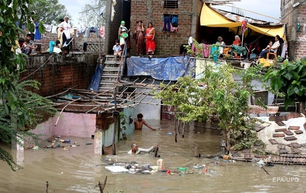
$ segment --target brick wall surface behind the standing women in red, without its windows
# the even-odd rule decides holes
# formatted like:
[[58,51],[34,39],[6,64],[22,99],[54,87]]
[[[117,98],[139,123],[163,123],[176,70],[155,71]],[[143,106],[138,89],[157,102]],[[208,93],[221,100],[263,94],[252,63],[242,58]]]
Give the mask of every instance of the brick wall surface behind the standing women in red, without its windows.
[[[130,29],[136,27],[136,21],[142,20],[146,27],[148,22],[152,22],[156,29],[156,55],[165,55],[167,53],[178,55],[180,45],[187,43],[191,34],[192,18],[196,12],[201,9],[193,10],[191,0],[179,0],[178,9],[165,9],[164,1],[161,0],[131,0]],[[201,5],[201,1],[198,1]],[[200,6],[200,8],[202,8]],[[178,32],[163,32],[164,14],[175,14],[179,16]],[[199,15],[200,13],[197,13]],[[196,16],[196,15],[195,15]],[[130,36],[133,30],[131,30]],[[135,53],[136,43],[131,40],[131,54]]]

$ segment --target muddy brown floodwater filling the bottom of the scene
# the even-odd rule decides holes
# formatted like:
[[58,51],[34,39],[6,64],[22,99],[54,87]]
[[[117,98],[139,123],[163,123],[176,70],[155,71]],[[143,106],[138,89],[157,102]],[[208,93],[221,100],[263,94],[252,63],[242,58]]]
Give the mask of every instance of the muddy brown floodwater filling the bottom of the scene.
[[[304,192],[306,190],[306,167],[302,165],[266,166],[268,175],[254,162],[223,162],[222,159],[194,157],[194,146],[199,146],[201,155],[220,153],[221,134],[219,130],[186,125],[185,138],[174,139],[173,121],[150,121],[155,128],[152,131],[143,128],[127,136],[127,140],[116,145],[117,155],[94,155],[91,138],[63,137],[76,141],[80,146],[33,150],[24,152],[12,150],[23,170],[13,172],[6,162],[0,162],[0,192],[32,193],[45,192],[45,183],[49,182],[48,192],[100,192],[94,186],[103,183],[107,175],[104,192]],[[146,153],[127,155],[132,142],[139,147],[148,148],[158,144],[158,154],[165,160],[165,167],[176,170],[187,167],[185,174],[116,173],[105,169],[104,159],[117,159],[117,162],[136,161],[139,165],[156,165],[158,157]],[[9,147],[5,147],[8,149]],[[214,161],[220,162],[215,164]],[[206,164],[208,171],[193,169],[194,164]]]

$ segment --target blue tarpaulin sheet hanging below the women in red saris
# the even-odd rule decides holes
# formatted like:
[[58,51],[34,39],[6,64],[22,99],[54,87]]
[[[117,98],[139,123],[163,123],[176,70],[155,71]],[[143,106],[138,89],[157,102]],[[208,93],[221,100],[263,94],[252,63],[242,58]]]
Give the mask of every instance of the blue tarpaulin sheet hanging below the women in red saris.
[[151,76],[157,80],[176,81],[179,77],[195,76],[195,59],[188,56],[169,58],[127,58],[127,76]]

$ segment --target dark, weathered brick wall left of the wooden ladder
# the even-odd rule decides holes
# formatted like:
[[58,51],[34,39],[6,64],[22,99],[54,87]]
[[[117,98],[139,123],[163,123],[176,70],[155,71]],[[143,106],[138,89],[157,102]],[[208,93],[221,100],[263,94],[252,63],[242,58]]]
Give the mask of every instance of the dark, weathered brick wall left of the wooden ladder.
[[26,72],[20,80],[39,81],[39,90],[31,89],[42,96],[63,92],[64,88],[87,89],[98,57],[98,54],[31,56],[26,59]]

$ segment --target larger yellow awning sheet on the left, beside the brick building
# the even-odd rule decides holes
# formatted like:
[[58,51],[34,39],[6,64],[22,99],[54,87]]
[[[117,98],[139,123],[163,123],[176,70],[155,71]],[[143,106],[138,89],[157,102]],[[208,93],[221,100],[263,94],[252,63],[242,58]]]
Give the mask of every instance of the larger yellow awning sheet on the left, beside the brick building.
[[208,27],[220,27],[220,28],[231,28],[241,26],[241,22],[233,22],[226,17],[220,15],[213,9],[209,8],[203,4],[201,17],[200,17],[201,26]]

